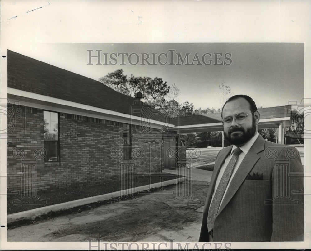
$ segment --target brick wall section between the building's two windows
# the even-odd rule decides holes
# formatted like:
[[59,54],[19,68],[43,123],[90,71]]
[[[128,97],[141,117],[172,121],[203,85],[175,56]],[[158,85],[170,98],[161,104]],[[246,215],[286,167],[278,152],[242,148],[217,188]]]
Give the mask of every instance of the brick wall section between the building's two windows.
[[63,113],[59,117],[61,168],[57,169],[64,179],[54,172],[56,185],[61,188],[115,180],[120,174],[119,161],[111,157],[110,151],[122,149],[122,124]]

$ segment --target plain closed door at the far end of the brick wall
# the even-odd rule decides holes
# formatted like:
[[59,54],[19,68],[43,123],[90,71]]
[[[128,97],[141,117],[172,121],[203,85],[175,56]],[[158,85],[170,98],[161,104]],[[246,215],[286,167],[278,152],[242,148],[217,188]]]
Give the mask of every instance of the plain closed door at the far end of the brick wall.
[[176,138],[163,137],[163,168],[176,168]]

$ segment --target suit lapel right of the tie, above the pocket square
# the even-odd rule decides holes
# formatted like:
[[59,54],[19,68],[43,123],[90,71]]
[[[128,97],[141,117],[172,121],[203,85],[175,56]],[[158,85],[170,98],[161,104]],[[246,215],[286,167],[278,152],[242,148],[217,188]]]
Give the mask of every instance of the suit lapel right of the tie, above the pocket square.
[[230,182],[229,188],[225,194],[225,197],[220,205],[218,213],[220,213],[225,206],[228,204],[230,199],[239,189],[239,187],[244,182],[247,174],[254,167],[258,159],[260,159],[258,153],[264,150],[265,140],[259,135],[257,140],[254,142],[253,146],[249,149],[248,153],[245,155],[243,161],[241,162],[237,172],[235,173],[232,181]]

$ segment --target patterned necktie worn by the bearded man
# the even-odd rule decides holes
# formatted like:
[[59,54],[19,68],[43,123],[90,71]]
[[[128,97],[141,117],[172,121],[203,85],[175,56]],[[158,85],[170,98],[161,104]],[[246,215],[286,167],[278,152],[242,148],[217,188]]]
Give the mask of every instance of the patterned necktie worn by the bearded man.
[[240,148],[236,148],[233,151],[233,156],[230,159],[229,164],[227,165],[225,172],[221,177],[221,180],[220,180],[219,185],[217,187],[217,190],[215,192],[213,201],[211,203],[210,210],[208,211],[208,217],[207,217],[207,221],[206,221],[208,231],[211,231],[214,227],[214,221],[215,221],[216,215],[218,213],[218,209],[220,206],[221,199],[225,194],[225,190],[226,190],[226,187],[228,186],[232,171],[234,169],[236,161],[238,160],[241,152],[242,152],[242,150]]

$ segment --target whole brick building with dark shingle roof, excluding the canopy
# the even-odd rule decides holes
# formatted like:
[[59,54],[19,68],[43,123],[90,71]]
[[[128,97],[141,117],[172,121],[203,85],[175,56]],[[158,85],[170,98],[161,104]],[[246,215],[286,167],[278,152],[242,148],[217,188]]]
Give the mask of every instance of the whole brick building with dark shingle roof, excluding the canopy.
[[8,189],[161,173],[186,161],[165,114],[104,84],[8,51]]

